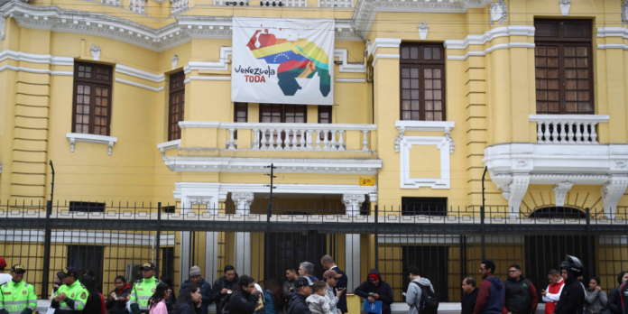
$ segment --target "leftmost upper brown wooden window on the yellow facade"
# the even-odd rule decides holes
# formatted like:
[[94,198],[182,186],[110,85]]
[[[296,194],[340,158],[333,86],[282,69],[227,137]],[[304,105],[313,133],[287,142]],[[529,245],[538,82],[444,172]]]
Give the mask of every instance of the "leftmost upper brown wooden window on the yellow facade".
[[72,132],[109,135],[113,68],[77,62],[74,65]]

